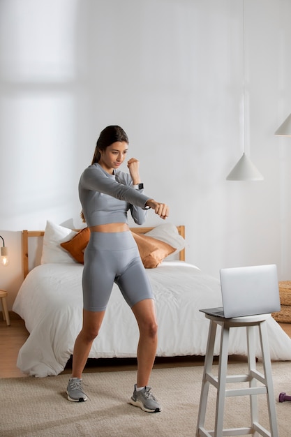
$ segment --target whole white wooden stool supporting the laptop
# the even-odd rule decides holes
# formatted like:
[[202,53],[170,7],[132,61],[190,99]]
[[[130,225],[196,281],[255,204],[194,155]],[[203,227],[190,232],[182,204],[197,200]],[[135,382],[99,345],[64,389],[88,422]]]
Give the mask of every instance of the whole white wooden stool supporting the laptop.
[[[241,436],[246,434],[254,435],[256,432],[262,436],[278,437],[278,428],[276,421],[276,406],[274,399],[273,380],[271,376],[271,360],[269,355],[269,343],[267,337],[267,318],[270,314],[261,314],[259,316],[247,316],[237,318],[221,318],[209,316],[210,320],[207,353],[204,361],[204,372],[202,378],[202,389],[200,396],[200,407],[197,419],[196,437],[222,437],[222,436]],[[218,377],[212,373],[214,359],[214,343],[216,338],[216,328],[221,325],[221,347],[218,363]],[[228,341],[231,327],[246,327],[248,343],[248,374],[227,376],[228,360]],[[262,348],[262,362],[264,374],[256,369],[255,360],[255,327],[260,332],[260,346]],[[257,380],[262,385],[257,387]],[[226,383],[245,383],[248,381],[248,387],[226,390]],[[214,385],[217,389],[216,395],[216,417],[214,430],[207,431],[204,429],[205,415],[207,410],[207,398],[209,385]],[[259,423],[258,417],[258,394],[267,394],[267,404],[269,410],[269,424],[271,432],[267,431]],[[245,428],[223,429],[223,416],[225,397],[246,396],[250,397],[251,406],[251,426]],[[237,412],[239,414],[239,411]]]

